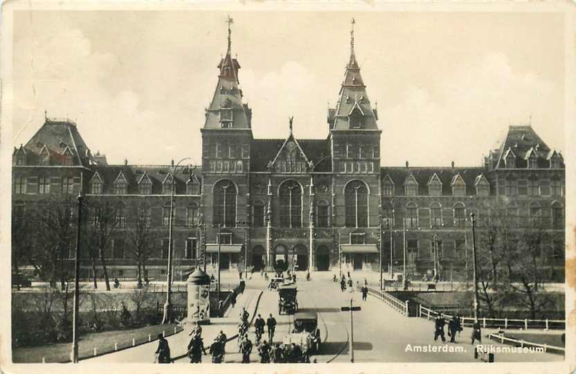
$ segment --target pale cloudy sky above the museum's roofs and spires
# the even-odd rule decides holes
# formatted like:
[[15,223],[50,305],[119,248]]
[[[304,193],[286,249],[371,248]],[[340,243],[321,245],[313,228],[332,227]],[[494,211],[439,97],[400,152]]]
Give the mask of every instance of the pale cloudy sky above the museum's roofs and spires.
[[[18,11],[12,145],[69,117],[109,163],[201,162],[228,12]],[[564,144],[564,15],[231,12],[255,138],[325,139],[354,51],[377,103],[382,166],[480,166],[508,125]]]

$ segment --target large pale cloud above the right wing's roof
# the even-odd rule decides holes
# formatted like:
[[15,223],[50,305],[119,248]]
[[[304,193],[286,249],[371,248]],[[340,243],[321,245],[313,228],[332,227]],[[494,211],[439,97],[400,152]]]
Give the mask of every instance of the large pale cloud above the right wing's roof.
[[486,55],[428,87],[407,87],[399,104],[379,111],[382,159],[390,166],[406,160],[413,166],[480,166],[503,127],[527,123],[530,115],[547,141],[546,105],[561,103],[550,80],[514,71],[503,54]]

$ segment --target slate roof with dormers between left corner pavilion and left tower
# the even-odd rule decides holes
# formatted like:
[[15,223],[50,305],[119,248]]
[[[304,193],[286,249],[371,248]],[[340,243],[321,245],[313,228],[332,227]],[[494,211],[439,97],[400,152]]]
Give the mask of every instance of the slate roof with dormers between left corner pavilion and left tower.
[[[152,182],[152,195],[161,195],[163,193],[162,181],[167,177],[170,172],[170,166],[139,166],[139,165],[107,165],[107,166],[91,166],[92,173],[87,175],[87,180],[91,180],[93,175],[98,172],[104,185],[102,186],[103,193],[111,193],[114,190],[114,181],[120,172],[128,182],[128,194],[138,194],[138,181],[143,177],[144,173],[150,178]],[[186,168],[178,168],[176,172],[176,193],[186,193],[186,182],[190,179],[190,171],[192,171],[198,178],[201,175],[200,166],[192,166],[192,170]],[[168,179],[170,180],[170,179]]]

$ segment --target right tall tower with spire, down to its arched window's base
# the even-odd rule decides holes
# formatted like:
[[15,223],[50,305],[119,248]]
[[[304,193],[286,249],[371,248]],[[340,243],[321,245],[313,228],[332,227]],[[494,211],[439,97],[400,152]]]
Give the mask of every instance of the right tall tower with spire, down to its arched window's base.
[[[343,191],[350,180],[358,180],[368,187],[370,216],[368,226],[378,224],[378,197],[380,173],[380,135],[378,114],[366,94],[366,84],[360,73],[354,51],[354,19],[350,22],[350,60],[345,67],[344,79],[335,108],[328,109],[327,122],[332,149],[332,171],[336,186],[335,208],[343,208]],[[345,224],[342,215],[336,215],[335,226]]]

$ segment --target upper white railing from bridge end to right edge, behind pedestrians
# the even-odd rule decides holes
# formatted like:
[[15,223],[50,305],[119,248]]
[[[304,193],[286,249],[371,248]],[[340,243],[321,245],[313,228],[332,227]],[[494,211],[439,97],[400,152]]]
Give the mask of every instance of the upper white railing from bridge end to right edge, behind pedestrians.
[[[426,308],[420,304],[419,317],[426,317],[426,319],[433,319],[438,316],[440,312],[437,312],[431,308]],[[442,313],[447,318],[452,318],[452,314]],[[474,324],[474,317],[460,317],[462,326],[471,327]],[[507,330],[508,328],[523,328],[527,330],[529,328],[537,328],[544,330],[564,330],[566,329],[566,321],[560,319],[508,319],[508,318],[478,318],[478,321],[482,323],[483,328],[503,328]]]

